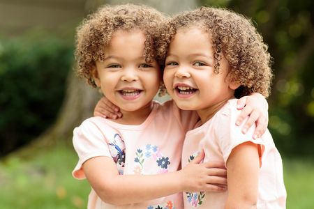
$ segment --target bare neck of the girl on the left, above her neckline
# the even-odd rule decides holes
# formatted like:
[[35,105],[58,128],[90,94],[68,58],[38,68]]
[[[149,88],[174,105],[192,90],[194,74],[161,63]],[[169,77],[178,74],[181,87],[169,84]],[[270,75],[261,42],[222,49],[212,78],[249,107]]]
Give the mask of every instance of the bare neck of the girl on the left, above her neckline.
[[122,118],[117,120],[112,120],[116,123],[124,124],[124,125],[140,125],[144,123],[149,114],[151,114],[151,110],[153,109],[153,102],[149,102],[147,105],[142,107],[141,109],[137,109],[135,111],[126,111],[124,109],[120,109]]

